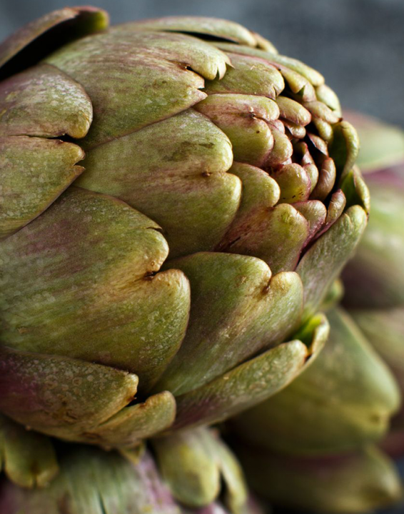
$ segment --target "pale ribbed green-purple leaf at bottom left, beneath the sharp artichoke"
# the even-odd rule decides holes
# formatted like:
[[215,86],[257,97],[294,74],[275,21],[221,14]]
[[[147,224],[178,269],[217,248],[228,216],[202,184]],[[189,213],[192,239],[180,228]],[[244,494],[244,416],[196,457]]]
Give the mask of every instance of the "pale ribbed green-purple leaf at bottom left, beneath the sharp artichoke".
[[143,453],[134,465],[116,452],[81,445],[64,450],[61,472],[49,488],[26,490],[3,481],[0,511],[8,514],[181,513],[148,453]]

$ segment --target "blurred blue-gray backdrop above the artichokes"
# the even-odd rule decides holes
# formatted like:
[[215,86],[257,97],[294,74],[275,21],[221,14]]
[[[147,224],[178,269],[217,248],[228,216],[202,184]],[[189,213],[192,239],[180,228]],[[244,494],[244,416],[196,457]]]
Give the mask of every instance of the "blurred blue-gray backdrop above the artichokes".
[[[0,39],[66,5],[69,0],[0,0]],[[404,126],[404,0],[94,0],[94,5],[107,9],[113,23],[168,14],[238,21],[271,39],[282,54],[321,71],[345,108]]]

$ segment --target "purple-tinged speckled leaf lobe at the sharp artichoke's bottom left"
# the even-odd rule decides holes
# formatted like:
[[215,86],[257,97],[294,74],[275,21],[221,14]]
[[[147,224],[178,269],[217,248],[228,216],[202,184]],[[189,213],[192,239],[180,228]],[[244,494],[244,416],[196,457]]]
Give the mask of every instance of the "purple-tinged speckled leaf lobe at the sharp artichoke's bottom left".
[[2,346],[0,410],[42,433],[76,440],[133,400],[138,378],[77,359]]

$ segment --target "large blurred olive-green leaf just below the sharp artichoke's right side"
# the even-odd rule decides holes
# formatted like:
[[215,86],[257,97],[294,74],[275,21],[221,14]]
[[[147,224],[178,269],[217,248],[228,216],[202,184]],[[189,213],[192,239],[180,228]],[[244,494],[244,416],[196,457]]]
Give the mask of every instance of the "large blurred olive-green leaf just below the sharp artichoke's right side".
[[286,454],[328,455],[385,435],[400,405],[398,385],[348,314],[335,309],[328,319],[330,338],[311,366],[229,422],[248,443]]

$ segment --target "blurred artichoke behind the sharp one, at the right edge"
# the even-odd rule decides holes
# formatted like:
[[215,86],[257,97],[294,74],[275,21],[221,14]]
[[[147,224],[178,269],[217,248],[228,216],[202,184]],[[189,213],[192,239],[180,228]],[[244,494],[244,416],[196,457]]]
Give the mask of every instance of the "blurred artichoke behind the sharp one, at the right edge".
[[[358,163],[372,198],[368,228],[343,271],[350,314],[333,308],[329,341],[312,366],[231,420],[256,490],[316,512],[368,512],[402,493],[393,463],[369,445],[385,438],[404,393],[404,133],[365,116],[348,119],[358,126]],[[393,455],[404,450],[403,419],[401,410],[383,440]]]

